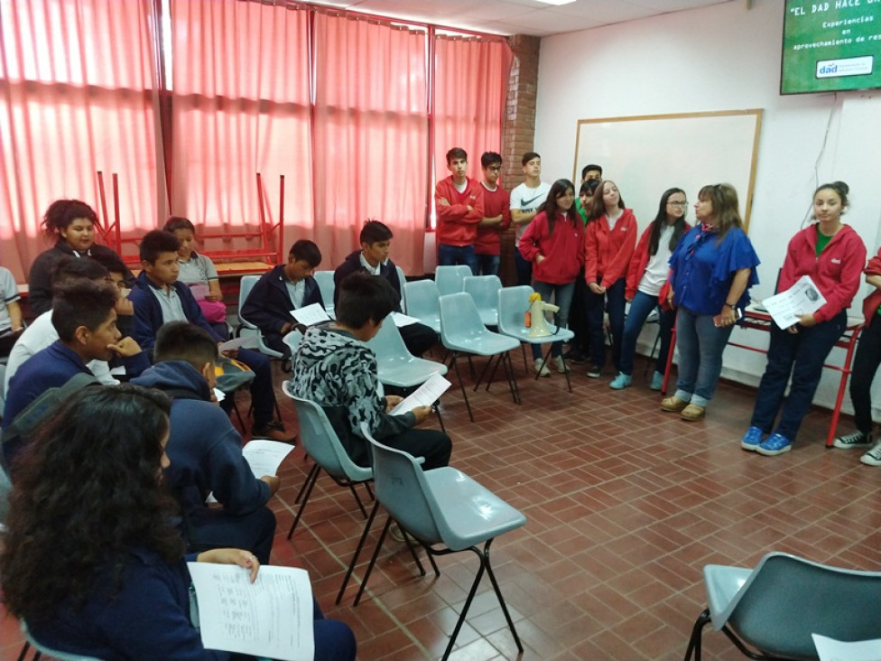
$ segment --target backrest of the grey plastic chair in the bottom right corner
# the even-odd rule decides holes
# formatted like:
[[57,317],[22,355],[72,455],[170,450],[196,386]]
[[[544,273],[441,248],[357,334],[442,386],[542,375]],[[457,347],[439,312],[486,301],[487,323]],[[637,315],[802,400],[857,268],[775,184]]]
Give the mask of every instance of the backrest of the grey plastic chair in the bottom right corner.
[[719,619],[768,654],[815,658],[811,634],[846,641],[878,638],[878,613],[881,573],[772,553]]

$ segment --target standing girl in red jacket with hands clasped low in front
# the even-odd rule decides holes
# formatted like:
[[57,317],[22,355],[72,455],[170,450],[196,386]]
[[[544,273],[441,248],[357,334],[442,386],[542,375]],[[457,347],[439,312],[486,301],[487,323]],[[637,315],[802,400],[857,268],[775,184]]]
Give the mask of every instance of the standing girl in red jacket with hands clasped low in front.
[[612,363],[621,372],[621,340],[624,335],[624,308],[627,268],[636,243],[636,218],[627,209],[615,182],[601,182],[593,196],[593,207],[584,237],[584,280],[588,285],[585,307],[588,312],[590,358],[588,376],[598,378],[606,364],[604,318],[612,331]]

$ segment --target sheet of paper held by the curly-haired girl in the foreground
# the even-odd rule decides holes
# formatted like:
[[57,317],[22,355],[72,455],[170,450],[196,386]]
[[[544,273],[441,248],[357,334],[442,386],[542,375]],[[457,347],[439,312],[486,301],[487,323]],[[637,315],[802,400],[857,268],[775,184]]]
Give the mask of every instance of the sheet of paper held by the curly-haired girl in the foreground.
[[202,645],[209,649],[312,661],[309,573],[264,565],[252,584],[235,564],[187,563],[199,601]]

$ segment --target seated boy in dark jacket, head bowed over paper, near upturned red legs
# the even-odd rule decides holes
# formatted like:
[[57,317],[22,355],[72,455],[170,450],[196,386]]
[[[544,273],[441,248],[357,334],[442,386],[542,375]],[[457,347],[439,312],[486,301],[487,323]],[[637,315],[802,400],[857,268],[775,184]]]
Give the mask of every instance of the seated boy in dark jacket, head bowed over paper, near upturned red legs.
[[320,263],[318,246],[301,238],[291,247],[287,264],[277,265],[260,276],[238,312],[242,319],[260,329],[267,347],[283,353],[285,358],[291,356],[291,349],[282,339],[296,324],[291,311],[312,303],[324,307],[321,290],[312,277]]

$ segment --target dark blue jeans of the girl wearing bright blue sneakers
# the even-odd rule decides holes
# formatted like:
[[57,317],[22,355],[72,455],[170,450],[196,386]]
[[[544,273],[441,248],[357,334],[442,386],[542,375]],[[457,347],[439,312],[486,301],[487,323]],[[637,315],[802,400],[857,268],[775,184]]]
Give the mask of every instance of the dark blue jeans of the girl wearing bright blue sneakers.
[[[848,315],[843,311],[811,328],[799,326],[797,333],[781,330],[777,324],[771,324],[768,365],[758,385],[751,426],[769,433],[783,405],[780,423],[774,432],[783,434],[790,441],[795,440],[802,418],[808,413],[820,384],[823,362],[847,325]],[[793,385],[784,402],[790,374],[793,376]]]

